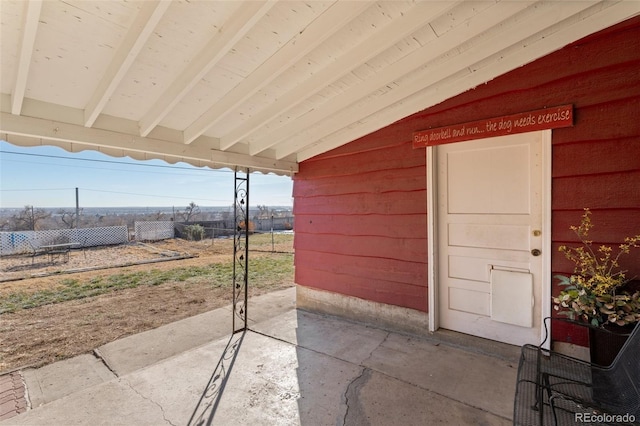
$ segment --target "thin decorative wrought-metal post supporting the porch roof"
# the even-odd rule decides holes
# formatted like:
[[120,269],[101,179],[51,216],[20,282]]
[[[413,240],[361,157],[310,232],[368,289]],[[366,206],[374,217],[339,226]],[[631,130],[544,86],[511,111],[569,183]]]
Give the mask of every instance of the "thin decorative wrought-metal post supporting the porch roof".
[[249,287],[249,169],[234,174],[233,333],[247,329]]

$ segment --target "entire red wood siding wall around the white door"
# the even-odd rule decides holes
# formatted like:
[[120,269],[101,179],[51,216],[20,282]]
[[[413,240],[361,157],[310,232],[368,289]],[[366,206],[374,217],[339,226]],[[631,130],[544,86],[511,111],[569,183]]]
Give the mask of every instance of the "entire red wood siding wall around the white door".
[[[300,164],[296,282],[427,309],[426,170],[416,130],[573,104],[553,131],[552,269],[584,207],[597,243],[640,233],[640,18],[589,36],[435,107]],[[640,253],[624,259],[640,277]],[[554,289],[557,291],[557,289]]]

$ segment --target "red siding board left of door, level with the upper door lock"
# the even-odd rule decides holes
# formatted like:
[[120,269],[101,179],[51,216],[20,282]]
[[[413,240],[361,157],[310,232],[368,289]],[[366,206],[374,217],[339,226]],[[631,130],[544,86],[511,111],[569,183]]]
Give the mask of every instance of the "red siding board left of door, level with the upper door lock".
[[296,232],[305,234],[370,235],[389,238],[427,238],[423,213],[404,215],[296,215]]

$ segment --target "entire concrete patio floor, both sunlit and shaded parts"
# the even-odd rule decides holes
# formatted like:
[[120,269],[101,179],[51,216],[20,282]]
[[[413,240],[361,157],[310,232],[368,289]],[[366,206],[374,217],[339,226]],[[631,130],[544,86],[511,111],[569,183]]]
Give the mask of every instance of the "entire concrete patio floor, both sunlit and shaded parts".
[[32,409],[0,425],[511,424],[518,348],[296,310],[294,289],[249,309],[244,333],[223,308],[25,370]]

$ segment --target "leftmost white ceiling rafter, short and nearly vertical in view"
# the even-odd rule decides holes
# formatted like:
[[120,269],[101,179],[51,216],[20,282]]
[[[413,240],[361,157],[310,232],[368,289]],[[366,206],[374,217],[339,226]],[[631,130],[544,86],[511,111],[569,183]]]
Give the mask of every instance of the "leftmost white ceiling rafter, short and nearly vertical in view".
[[22,40],[18,53],[18,67],[16,71],[16,81],[13,85],[11,95],[11,113],[20,115],[22,101],[27,90],[27,79],[29,78],[29,66],[33,55],[33,46],[36,42],[38,32],[38,21],[42,10],[42,1],[28,1],[24,4],[24,24],[22,27]]

